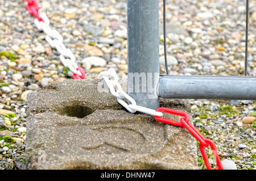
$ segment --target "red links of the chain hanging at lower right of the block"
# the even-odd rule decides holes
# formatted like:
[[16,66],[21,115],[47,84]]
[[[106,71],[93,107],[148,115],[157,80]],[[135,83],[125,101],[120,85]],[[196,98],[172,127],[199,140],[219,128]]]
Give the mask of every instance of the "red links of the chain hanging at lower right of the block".
[[217,149],[213,143],[212,140],[205,138],[190,122],[189,122],[189,115],[186,112],[172,110],[170,108],[166,107],[159,107],[156,111],[158,112],[166,112],[171,113],[173,115],[177,116],[183,116],[180,119],[180,122],[174,121],[174,120],[168,120],[163,117],[154,116],[156,121],[160,121],[162,123],[167,123],[171,125],[176,125],[177,127],[185,127],[188,129],[188,131],[197,139],[197,141],[200,142],[199,149],[201,151],[201,154],[203,156],[205,166],[207,167],[207,170],[212,170],[212,167],[210,166],[209,159],[207,157],[207,154],[205,153],[204,147],[208,147],[210,145],[210,148],[212,149],[213,156],[217,163],[217,168],[214,168],[214,170],[222,170],[222,164],[220,161],[220,157],[218,156]]

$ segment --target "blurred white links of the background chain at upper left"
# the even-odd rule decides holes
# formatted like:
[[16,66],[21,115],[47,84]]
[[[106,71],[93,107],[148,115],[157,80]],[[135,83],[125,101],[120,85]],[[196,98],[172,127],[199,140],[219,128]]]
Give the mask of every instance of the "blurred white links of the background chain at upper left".
[[75,62],[76,57],[72,53],[71,49],[66,48],[63,44],[63,37],[59,32],[52,30],[51,27],[49,27],[49,19],[46,14],[42,13],[39,16],[43,19],[44,22],[40,22],[38,19],[35,19],[34,23],[36,28],[38,28],[39,31],[46,33],[46,41],[52,48],[55,48],[57,52],[60,53],[60,61],[65,66],[65,68],[69,68],[70,71],[81,76],[81,72],[76,70],[78,68]]

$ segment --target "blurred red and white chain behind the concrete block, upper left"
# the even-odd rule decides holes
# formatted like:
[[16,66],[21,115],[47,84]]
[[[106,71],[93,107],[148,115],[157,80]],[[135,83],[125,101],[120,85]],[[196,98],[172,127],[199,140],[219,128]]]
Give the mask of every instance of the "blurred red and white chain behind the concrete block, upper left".
[[49,27],[49,19],[46,14],[39,14],[39,4],[36,0],[23,0],[27,1],[26,8],[31,15],[35,16],[35,26],[39,31],[46,33],[45,40],[49,43],[52,48],[55,48],[60,53],[60,61],[73,72],[74,79],[84,79],[85,73],[80,66],[76,64],[76,57],[72,53],[71,49],[66,48],[63,44],[63,37],[56,30],[52,30]]

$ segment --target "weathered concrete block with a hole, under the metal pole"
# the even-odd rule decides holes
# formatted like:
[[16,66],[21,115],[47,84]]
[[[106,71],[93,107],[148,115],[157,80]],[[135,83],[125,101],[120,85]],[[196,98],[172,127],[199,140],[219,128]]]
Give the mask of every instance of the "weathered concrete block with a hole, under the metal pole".
[[[104,87],[102,79],[69,79],[28,94],[28,170],[199,169],[186,129],[127,112]],[[188,100],[160,98],[160,106],[192,117]]]

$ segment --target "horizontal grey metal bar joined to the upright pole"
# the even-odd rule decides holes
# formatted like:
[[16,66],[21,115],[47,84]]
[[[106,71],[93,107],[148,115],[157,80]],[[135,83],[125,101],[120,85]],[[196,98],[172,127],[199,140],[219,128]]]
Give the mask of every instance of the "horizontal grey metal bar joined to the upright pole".
[[164,76],[159,79],[158,95],[166,99],[256,100],[256,77]]

